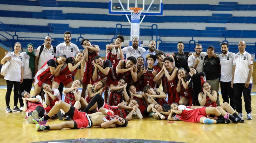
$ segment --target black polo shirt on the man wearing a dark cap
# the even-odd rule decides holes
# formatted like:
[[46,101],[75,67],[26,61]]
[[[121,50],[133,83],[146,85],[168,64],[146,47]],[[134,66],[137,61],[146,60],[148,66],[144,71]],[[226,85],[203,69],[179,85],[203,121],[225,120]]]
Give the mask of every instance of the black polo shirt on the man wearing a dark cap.
[[204,73],[206,76],[206,80],[215,80],[219,78],[220,71],[220,61],[219,58],[210,58],[205,56],[204,58]]

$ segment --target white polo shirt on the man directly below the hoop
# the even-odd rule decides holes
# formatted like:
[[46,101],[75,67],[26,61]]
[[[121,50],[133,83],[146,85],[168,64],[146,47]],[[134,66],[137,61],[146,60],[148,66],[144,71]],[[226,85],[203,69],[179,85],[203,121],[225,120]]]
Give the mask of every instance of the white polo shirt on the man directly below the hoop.
[[123,48],[123,54],[126,54],[126,59],[127,59],[128,57],[131,57],[131,56],[133,56],[133,57],[135,57],[135,58],[137,59],[137,58],[140,57],[140,56],[142,55],[142,53],[145,52],[145,51],[146,51],[146,50],[145,50],[144,48],[139,47],[139,46],[138,46],[138,48],[137,48],[136,50],[133,48],[133,46],[124,47],[124,48]]

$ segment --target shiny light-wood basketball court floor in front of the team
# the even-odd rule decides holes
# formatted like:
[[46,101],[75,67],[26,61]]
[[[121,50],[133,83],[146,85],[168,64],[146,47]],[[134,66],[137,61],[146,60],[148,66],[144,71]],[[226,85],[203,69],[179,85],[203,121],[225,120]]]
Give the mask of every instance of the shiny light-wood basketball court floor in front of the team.
[[[0,85],[5,85],[3,78],[0,78]],[[255,88],[252,90],[256,91]],[[123,139],[150,139],[167,140],[176,142],[255,142],[256,136],[256,96],[252,96],[252,118],[246,119],[246,112],[243,111],[245,123],[238,124],[214,124],[206,125],[199,123],[188,123],[174,121],[167,123],[167,120],[155,120],[146,117],[142,120],[133,119],[125,128],[100,127],[85,128],[81,130],[63,129],[59,131],[35,131],[35,125],[26,123],[25,113],[5,112],[5,92],[0,89],[0,142],[5,143],[26,143],[44,140],[62,140],[78,138],[123,138]],[[33,93],[33,91],[32,91]],[[222,103],[220,96],[220,102]],[[13,108],[13,93],[11,95],[11,109]],[[19,103],[18,103],[19,106]],[[244,102],[243,102],[244,107]],[[49,119],[47,125],[62,123],[63,121]],[[254,140],[254,141],[253,141]]]

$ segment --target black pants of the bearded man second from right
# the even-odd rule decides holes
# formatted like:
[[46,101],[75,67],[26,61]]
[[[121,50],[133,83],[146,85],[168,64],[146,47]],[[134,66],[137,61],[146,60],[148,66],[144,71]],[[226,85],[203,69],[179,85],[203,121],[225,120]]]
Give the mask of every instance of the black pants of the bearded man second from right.
[[230,82],[223,82],[220,81],[220,90],[223,99],[223,103],[229,103],[230,98],[230,106],[235,110],[235,96],[234,96],[234,89],[231,88],[231,81]]

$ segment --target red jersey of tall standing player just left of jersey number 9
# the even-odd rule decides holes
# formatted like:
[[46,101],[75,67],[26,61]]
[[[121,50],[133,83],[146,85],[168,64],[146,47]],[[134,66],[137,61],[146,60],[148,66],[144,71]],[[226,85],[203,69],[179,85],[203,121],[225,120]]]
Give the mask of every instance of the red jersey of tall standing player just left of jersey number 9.
[[[94,45],[92,45],[94,47]],[[85,62],[85,67],[84,67],[84,71],[85,71],[85,74],[84,74],[84,77],[92,77],[92,69],[93,69],[93,60],[94,60],[94,57],[96,55],[99,55],[99,53],[95,52],[95,51],[92,51],[90,52],[88,50],[88,61]]]

